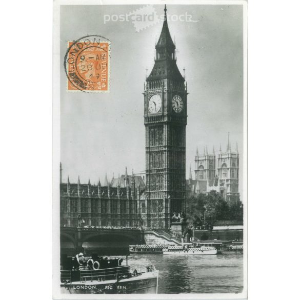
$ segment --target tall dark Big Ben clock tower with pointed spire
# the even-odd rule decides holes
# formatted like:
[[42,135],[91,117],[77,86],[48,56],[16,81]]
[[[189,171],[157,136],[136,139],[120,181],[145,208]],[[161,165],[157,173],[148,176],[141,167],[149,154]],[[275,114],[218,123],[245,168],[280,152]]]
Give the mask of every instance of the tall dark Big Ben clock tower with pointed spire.
[[153,228],[169,228],[185,200],[188,93],[176,65],[166,6],[155,50],[144,91],[147,221]]

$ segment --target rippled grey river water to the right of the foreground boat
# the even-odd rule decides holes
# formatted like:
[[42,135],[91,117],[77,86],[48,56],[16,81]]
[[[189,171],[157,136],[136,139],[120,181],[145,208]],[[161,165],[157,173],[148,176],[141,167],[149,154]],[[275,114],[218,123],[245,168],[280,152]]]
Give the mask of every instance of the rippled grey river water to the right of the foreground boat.
[[243,255],[130,255],[128,265],[159,270],[158,293],[241,293]]

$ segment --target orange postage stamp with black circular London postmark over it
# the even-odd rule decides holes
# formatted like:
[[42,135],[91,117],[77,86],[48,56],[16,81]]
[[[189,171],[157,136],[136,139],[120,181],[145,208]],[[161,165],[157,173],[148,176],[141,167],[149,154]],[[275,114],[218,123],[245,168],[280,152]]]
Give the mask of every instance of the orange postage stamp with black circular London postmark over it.
[[68,42],[64,68],[67,90],[109,91],[110,41],[101,35],[83,36]]

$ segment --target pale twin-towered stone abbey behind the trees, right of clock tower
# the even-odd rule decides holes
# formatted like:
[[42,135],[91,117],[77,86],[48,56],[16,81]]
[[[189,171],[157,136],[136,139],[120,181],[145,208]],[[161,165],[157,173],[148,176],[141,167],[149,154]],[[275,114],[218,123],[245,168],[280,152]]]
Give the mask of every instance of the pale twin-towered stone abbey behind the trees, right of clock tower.
[[189,179],[186,181],[187,197],[217,191],[228,202],[238,201],[238,170],[237,145],[235,151],[232,151],[229,138],[226,151],[223,152],[220,146],[217,155],[214,149],[211,154],[208,153],[207,147],[202,154],[196,149],[195,179],[190,169]]

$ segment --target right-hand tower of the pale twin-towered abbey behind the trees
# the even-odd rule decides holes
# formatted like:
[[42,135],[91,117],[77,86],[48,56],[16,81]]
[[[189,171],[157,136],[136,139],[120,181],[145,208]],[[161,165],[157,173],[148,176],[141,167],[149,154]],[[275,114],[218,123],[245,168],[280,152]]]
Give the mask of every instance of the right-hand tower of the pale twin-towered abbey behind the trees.
[[226,195],[223,195],[226,201],[238,201],[238,166],[239,155],[236,145],[235,152],[231,150],[229,132],[226,152],[222,152],[221,146],[217,157],[217,174],[221,187],[226,188]]

